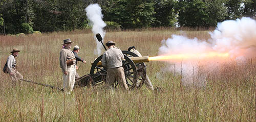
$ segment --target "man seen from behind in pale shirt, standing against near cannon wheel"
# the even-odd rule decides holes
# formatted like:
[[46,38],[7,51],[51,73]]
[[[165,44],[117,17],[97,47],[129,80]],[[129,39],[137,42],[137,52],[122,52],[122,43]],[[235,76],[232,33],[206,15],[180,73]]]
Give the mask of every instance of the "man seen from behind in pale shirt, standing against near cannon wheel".
[[106,83],[111,87],[114,86],[114,82],[117,80],[121,87],[129,90],[122,67],[124,56],[122,51],[114,46],[115,44],[113,41],[106,42],[109,50],[102,56],[102,65],[108,69],[106,71]]

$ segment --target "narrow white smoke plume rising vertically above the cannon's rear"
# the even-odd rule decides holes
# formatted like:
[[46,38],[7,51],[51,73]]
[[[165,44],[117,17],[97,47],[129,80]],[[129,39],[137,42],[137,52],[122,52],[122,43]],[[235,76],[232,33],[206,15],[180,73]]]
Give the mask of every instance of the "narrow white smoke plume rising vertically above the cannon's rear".
[[[90,24],[93,26],[93,34],[96,35],[97,33],[99,33],[102,37],[102,42],[104,42],[105,31],[103,30],[103,28],[106,26],[106,23],[102,20],[103,14],[101,13],[100,6],[98,4],[91,4],[85,10],[87,17],[90,20]],[[94,50],[94,54],[100,56],[103,46],[95,36],[94,39],[97,43],[97,47]]]

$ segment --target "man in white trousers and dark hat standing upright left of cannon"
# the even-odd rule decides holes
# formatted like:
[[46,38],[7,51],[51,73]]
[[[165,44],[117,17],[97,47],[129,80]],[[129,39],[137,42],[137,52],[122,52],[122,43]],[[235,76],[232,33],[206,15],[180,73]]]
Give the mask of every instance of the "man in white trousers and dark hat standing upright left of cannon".
[[63,90],[68,94],[73,90],[76,75],[76,59],[70,50],[72,43],[70,39],[64,39],[62,50],[59,53],[59,64],[63,72]]

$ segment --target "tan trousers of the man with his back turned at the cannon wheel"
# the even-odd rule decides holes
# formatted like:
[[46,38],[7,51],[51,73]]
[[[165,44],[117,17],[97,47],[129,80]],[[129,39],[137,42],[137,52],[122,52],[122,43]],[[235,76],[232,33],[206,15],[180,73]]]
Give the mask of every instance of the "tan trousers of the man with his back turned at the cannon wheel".
[[108,84],[110,87],[114,86],[115,80],[122,88],[129,90],[126,84],[123,67],[111,68],[106,71],[106,84]]

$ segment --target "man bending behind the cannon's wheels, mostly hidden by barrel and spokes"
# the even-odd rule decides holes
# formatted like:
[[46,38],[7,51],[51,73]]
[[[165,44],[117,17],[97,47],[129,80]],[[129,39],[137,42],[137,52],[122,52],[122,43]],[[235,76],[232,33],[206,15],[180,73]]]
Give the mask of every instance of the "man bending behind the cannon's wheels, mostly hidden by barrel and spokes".
[[[135,46],[130,46],[130,47],[128,48],[128,51],[130,51],[130,52],[132,52],[132,53],[135,53],[135,54],[138,55],[139,57],[142,57],[142,55],[140,54],[140,52],[136,50]],[[141,68],[141,65],[138,65],[137,68],[140,69],[140,68]],[[143,77],[143,72],[141,72],[140,70],[138,70],[138,76]],[[147,88],[154,90],[154,87],[153,87],[153,85],[152,85],[150,79],[147,77],[147,75],[146,75],[146,79],[145,79],[145,82],[144,82],[144,83],[145,83],[145,85],[146,85]]]

